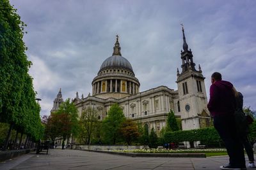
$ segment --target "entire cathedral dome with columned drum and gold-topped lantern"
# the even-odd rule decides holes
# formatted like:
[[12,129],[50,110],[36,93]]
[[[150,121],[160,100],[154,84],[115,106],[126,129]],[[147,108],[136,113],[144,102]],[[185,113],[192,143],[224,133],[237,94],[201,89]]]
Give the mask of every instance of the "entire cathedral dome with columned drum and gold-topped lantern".
[[92,80],[92,96],[121,99],[139,92],[140,82],[135,77],[131,63],[122,57],[116,36],[112,56],[102,62],[98,75]]

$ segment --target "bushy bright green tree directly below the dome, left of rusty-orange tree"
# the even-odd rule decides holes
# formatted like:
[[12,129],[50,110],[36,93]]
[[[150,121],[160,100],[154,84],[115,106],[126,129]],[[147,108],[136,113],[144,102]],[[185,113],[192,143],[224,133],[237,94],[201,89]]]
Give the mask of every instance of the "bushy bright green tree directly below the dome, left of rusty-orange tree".
[[115,145],[118,139],[120,125],[125,121],[122,108],[118,104],[113,104],[108,111],[108,116],[102,120],[102,136],[106,143]]

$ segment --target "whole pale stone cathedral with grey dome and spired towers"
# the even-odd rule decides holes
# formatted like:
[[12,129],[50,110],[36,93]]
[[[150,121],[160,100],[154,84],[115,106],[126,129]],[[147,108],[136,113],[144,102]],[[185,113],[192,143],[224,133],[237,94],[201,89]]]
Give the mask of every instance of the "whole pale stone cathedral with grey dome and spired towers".
[[[136,78],[131,63],[121,54],[116,36],[113,54],[102,62],[97,76],[92,80],[92,95],[80,98],[78,93],[72,101],[77,107],[79,117],[86,108],[94,108],[98,119],[108,116],[112,104],[118,103],[125,117],[141,123],[148,130],[152,127],[157,133],[166,126],[167,115],[173,110],[181,118],[182,130],[199,129],[211,124],[207,110],[202,69],[193,62],[193,54],[188,48],[182,27],[183,50],[180,53],[181,70],[177,69],[177,90],[159,86],[140,92],[140,81]],[[61,90],[52,111],[58,110],[63,102]]]

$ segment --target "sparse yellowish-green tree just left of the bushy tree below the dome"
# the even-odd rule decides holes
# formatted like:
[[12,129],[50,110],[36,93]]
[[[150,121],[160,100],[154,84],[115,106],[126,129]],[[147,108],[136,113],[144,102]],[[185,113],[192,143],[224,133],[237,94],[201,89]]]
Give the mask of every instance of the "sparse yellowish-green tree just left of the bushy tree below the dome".
[[97,117],[97,110],[92,108],[86,109],[81,115],[79,138],[87,145],[90,145],[92,138],[97,136],[97,130],[99,129],[99,120]]

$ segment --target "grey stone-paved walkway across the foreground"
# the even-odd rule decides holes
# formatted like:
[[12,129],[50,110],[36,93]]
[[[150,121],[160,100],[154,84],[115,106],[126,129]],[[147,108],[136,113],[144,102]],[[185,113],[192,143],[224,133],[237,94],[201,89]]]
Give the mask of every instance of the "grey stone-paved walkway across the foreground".
[[[0,163],[0,169],[220,169],[228,157],[172,158],[172,157],[126,157],[108,153],[82,150],[49,150],[36,155],[29,153]],[[246,162],[248,159],[246,157]]]

